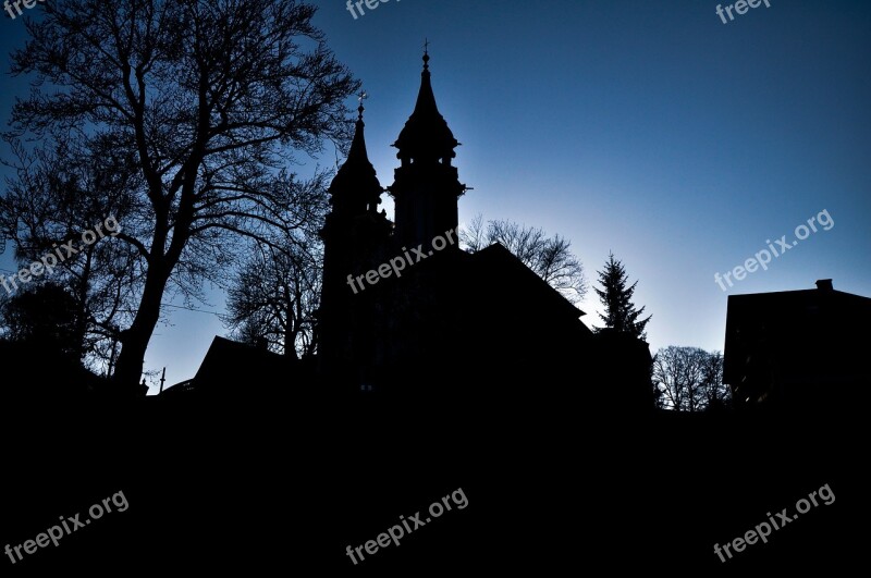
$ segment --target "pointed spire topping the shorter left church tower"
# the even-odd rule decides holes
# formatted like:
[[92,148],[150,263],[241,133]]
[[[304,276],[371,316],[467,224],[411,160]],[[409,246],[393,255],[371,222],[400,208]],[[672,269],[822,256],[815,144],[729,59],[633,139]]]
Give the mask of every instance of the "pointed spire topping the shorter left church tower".
[[354,139],[351,142],[351,149],[344,164],[339,169],[330,184],[332,205],[334,209],[347,211],[352,214],[359,214],[369,210],[375,212],[381,202],[381,183],[376,176],[375,167],[369,161],[366,151],[366,137],[363,122],[364,99],[368,98],[366,93],[358,96],[359,107],[357,107],[357,122],[354,130]]

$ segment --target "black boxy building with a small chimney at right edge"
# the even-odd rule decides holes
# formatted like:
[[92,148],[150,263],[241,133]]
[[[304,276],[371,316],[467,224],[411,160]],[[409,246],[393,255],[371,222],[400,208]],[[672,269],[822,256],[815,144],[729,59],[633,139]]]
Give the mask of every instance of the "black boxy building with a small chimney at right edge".
[[[871,299],[815,290],[731,295],[723,382],[738,408],[835,407],[868,385]],[[858,331],[857,331],[858,330]]]

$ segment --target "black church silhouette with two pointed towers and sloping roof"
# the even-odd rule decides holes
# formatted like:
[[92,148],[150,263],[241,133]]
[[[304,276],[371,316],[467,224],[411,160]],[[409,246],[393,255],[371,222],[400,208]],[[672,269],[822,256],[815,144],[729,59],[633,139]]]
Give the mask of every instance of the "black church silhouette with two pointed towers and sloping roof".
[[[394,397],[438,395],[461,383],[466,394],[528,397],[604,379],[628,388],[612,391],[614,401],[650,405],[646,343],[594,334],[584,311],[503,246],[459,248],[457,204],[468,187],[452,164],[459,143],[436,103],[429,60],[425,52],[417,102],[393,144],[401,162],[393,184],[382,187],[369,161],[360,103],[347,159],[330,186],[320,379],[349,394]],[[394,222],[378,210],[384,192]],[[402,270],[391,268],[400,261]]]

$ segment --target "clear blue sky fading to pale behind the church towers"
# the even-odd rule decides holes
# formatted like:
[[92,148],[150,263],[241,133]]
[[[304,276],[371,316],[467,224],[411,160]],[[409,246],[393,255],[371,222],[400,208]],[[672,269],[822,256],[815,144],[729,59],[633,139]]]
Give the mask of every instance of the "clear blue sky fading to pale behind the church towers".
[[[357,20],[330,0],[316,2],[315,23],[369,94],[382,185],[398,165],[390,145],[414,108],[426,37],[439,109],[463,143],[455,165],[474,187],[461,223],[482,213],[559,233],[591,283],[613,250],[653,316],[651,352],[722,351],[728,295],[831,278],[871,296],[871,2],[770,3],[723,24],[700,0],[389,0]],[[23,46],[20,21],[0,25],[5,53]],[[3,83],[5,121],[26,84]],[[331,146],[320,163],[334,163]],[[792,243],[823,210],[829,231],[726,292],[716,284],[714,273],[766,239]],[[0,269],[16,269],[10,256]],[[223,296],[197,307],[222,311]],[[592,291],[580,307],[598,324]],[[167,366],[172,384],[225,329],[212,313],[168,312],[146,368]]]

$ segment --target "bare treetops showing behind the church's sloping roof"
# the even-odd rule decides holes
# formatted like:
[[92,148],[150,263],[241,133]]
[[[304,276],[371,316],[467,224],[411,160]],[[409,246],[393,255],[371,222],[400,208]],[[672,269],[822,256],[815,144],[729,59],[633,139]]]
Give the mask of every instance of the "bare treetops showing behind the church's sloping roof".
[[572,242],[565,237],[549,237],[542,229],[507,220],[484,224],[483,217],[478,214],[459,231],[459,241],[471,253],[493,243],[501,244],[572,303],[580,302],[587,293],[584,266],[572,253]]

